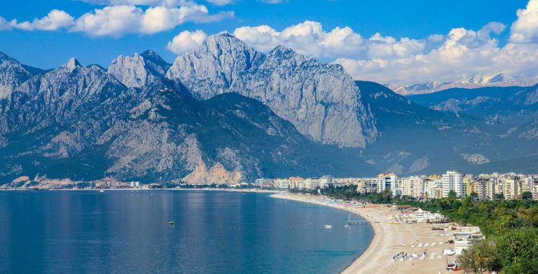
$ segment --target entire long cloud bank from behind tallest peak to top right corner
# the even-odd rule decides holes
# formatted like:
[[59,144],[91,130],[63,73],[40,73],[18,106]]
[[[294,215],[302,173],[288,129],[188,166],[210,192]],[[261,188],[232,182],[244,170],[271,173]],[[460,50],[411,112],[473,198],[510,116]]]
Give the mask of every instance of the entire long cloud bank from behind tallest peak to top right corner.
[[506,29],[499,22],[419,39],[382,34],[366,38],[350,27],[326,30],[313,21],[280,31],[268,25],[239,27],[234,34],[262,51],[287,45],[305,55],[335,59],[354,78],[382,83],[462,80],[476,73],[499,72],[506,78],[537,77],[538,0],[530,0],[517,15],[506,45],[495,38]]

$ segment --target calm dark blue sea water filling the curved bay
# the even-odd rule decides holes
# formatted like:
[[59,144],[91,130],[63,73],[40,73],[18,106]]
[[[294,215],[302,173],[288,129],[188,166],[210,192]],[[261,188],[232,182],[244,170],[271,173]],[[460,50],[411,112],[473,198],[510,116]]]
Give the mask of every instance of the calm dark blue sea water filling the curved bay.
[[347,217],[261,193],[0,192],[0,273],[338,273],[373,237]]

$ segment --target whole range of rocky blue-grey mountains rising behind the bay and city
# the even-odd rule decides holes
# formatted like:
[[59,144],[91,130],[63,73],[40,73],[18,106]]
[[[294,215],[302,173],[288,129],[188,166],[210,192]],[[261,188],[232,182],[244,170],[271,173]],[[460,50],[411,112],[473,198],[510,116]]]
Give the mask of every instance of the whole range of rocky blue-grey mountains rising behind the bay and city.
[[[538,102],[532,92],[511,98]],[[337,64],[282,46],[264,54],[230,34],[209,36],[173,64],[146,51],[107,70],[70,59],[41,71],[1,54],[0,182],[473,173],[538,153],[536,138],[515,134],[534,130],[532,116],[492,122],[417,101],[425,106],[355,82]]]

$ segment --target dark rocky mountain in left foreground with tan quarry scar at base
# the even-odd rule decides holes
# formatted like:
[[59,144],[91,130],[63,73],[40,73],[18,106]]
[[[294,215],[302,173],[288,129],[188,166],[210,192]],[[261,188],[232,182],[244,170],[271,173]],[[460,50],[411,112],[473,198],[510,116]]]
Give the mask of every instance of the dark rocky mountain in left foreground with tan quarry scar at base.
[[356,156],[315,143],[254,99],[200,101],[165,78],[126,87],[76,59],[23,82],[0,106],[3,182],[41,174],[224,183],[357,168],[347,161]]

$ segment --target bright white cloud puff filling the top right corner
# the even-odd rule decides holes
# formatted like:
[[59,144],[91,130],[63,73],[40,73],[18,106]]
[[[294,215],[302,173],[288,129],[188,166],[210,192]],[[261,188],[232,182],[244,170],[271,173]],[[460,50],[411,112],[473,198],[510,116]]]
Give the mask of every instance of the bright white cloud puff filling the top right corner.
[[517,12],[518,20],[511,27],[510,42],[538,43],[538,0],[530,0],[527,8]]

